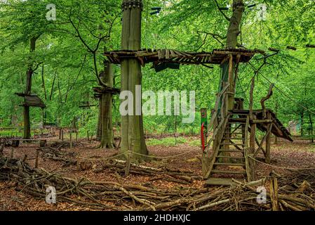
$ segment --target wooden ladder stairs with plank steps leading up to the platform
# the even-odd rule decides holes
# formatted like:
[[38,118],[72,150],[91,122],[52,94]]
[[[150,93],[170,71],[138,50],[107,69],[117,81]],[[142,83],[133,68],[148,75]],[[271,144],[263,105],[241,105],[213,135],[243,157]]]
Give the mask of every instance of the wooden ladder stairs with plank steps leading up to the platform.
[[[232,178],[250,181],[248,165],[248,115],[230,113],[216,137],[208,170],[207,185],[231,185]],[[221,139],[220,139],[221,137]]]

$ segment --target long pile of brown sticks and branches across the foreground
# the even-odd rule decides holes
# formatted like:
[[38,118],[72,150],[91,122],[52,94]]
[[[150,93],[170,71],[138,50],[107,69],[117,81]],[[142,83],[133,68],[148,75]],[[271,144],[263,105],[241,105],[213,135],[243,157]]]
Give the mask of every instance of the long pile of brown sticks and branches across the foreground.
[[[314,174],[315,171],[304,172],[307,177],[313,177]],[[286,177],[290,178],[290,175]],[[57,191],[57,202],[75,203],[97,210],[257,211],[277,210],[275,203],[279,210],[315,210],[315,191],[311,185],[314,179],[289,181],[286,177],[269,178],[274,190],[266,192],[264,203],[257,203],[260,191],[253,188],[253,184],[239,181],[235,181],[235,186],[211,189],[158,189],[113,181],[93,182],[85,178],[74,180],[58,172],[34,169],[21,160],[0,158],[0,181],[14,182],[15,190],[45,200],[46,188],[53,186]],[[278,186],[274,185],[275,180],[279,181]],[[292,190],[288,191],[290,188]]]

